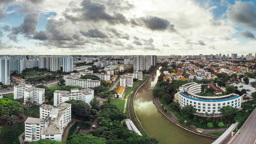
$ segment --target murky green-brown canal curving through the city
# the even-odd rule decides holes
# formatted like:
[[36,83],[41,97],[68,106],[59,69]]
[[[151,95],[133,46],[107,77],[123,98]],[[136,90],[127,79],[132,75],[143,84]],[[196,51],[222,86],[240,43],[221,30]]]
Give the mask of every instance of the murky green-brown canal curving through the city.
[[[160,67],[161,68],[161,67]],[[159,68],[159,70],[160,70]],[[158,111],[153,103],[153,90],[150,92],[146,88],[153,89],[157,83],[160,71],[148,80],[137,93],[135,98],[135,111],[137,118],[144,129],[152,137],[155,137],[160,143],[211,143],[215,139],[186,131],[173,122],[169,121],[162,113]]]

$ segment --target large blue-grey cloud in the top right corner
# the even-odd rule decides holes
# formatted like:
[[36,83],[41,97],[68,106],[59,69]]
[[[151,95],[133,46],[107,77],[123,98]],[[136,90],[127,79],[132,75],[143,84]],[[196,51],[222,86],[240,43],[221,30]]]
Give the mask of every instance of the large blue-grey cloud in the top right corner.
[[234,22],[256,28],[256,8],[252,2],[236,1],[226,12],[227,17]]

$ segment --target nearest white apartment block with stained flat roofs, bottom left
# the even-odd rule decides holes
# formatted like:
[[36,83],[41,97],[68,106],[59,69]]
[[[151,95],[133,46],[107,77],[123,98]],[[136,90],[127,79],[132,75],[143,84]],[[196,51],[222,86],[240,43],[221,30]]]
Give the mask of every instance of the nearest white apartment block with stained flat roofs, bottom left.
[[28,118],[25,122],[25,141],[51,139],[61,141],[62,133],[71,122],[71,104],[60,103],[57,107],[40,106],[40,118]]

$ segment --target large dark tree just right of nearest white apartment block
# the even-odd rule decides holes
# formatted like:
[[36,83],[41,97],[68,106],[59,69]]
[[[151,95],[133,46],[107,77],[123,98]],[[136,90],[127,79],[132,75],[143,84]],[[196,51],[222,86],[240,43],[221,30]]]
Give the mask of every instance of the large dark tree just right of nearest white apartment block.
[[82,119],[88,120],[91,114],[91,107],[89,104],[82,100],[69,100],[66,103],[70,103],[71,112],[80,116]]

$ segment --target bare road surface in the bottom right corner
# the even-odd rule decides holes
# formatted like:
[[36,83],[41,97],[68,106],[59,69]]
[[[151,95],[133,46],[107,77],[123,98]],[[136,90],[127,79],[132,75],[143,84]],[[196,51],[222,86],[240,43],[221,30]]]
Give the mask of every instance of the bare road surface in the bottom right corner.
[[245,122],[239,134],[234,137],[232,144],[254,144],[256,140],[256,109],[251,113],[250,118]]

